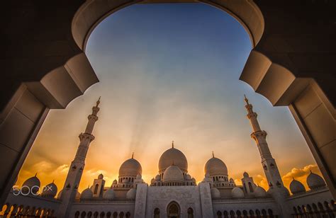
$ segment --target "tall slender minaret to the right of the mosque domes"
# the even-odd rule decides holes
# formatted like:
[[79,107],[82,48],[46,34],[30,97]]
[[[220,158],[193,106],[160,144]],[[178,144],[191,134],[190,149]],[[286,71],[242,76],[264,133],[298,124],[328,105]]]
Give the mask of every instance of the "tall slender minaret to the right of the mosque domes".
[[245,108],[247,110],[247,118],[249,118],[252,130],[252,139],[254,139],[255,144],[259,149],[260,156],[262,158],[262,168],[264,168],[264,173],[269,184],[269,193],[274,197],[274,199],[281,205],[281,211],[283,217],[286,217],[288,210],[284,205],[286,196],[289,195],[289,191],[284,187],[282,182],[278,166],[276,166],[276,161],[271,156],[271,151],[269,151],[269,145],[266,141],[267,132],[260,129],[259,122],[257,120],[257,113],[253,111],[253,106],[249,103],[249,100],[245,96]]

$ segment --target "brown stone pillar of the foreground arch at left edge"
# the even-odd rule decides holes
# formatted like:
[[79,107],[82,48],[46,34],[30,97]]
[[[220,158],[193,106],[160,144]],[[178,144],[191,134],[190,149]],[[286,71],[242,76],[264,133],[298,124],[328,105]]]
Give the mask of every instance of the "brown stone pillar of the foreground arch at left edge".
[[0,203],[15,183],[49,108],[21,85],[0,113]]

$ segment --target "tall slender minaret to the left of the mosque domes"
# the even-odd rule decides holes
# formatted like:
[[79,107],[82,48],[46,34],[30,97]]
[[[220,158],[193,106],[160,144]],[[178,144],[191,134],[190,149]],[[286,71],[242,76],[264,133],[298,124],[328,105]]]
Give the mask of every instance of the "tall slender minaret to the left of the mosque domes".
[[94,130],[94,124],[98,120],[97,113],[99,112],[100,97],[96,102],[96,105],[92,108],[92,113],[89,115],[85,132],[79,134],[79,147],[77,149],[76,156],[71,162],[69,172],[67,173],[67,179],[62,190],[61,200],[62,204],[59,207],[59,215],[57,217],[69,217],[69,209],[72,202],[76,197],[79,182],[82,178],[82,173],[85,166],[85,158],[87,151],[89,150],[90,143],[94,140],[92,131]]

